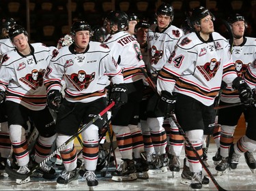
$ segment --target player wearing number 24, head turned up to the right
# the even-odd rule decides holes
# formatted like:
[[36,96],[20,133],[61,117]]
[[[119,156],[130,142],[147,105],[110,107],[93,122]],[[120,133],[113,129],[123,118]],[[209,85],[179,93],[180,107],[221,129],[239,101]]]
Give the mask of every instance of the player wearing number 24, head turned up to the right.
[[[252,92],[236,74],[227,39],[214,32],[214,16],[205,7],[195,7],[188,19],[195,32],[180,38],[158,75],[157,90],[161,96],[158,108],[165,116],[175,111],[186,137],[202,156],[203,131],[212,131],[214,127],[214,99],[222,80],[240,92],[244,103],[250,104]],[[212,73],[208,68],[213,59],[216,65]],[[182,177],[191,179],[191,188],[200,189],[202,165],[192,149],[186,144],[189,168],[183,169]]]

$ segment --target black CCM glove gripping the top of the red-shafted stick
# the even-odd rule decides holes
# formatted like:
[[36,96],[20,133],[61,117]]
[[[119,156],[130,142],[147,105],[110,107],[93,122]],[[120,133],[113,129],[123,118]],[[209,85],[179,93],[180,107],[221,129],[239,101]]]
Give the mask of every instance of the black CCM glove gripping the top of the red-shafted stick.
[[115,84],[111,89],[110,100],[115,101],[115,107],[121,107],[128,101],[126,84]]

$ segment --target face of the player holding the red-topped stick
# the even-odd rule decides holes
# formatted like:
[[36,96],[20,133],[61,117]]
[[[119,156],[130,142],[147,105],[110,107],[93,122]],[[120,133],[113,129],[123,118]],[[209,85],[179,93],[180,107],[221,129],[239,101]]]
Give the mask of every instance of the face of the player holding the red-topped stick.
[[74,42],[77,48],[85,50],[89,44],[90,32],[89,31],[77,31],[74,35]]

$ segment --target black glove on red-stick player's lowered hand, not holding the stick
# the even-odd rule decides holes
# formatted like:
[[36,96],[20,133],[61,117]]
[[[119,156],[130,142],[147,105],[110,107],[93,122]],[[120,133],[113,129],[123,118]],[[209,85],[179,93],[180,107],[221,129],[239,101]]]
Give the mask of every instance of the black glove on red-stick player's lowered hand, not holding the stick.
[[53,111],[58,111],[62,103],[62,94],[59,90],[50,90],[47,94],[47,105]]

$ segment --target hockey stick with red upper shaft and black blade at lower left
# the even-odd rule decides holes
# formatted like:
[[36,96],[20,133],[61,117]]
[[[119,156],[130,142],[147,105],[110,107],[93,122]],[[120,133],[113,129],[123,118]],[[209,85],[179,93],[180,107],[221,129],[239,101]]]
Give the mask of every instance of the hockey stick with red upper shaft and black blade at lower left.
[[33,174],[36,170],[38,170],[40,167],[42,167],[43,164],[45,164],[48,160],[50,160],[50,158],[52,158],[53,156],[55,156],[55,154],[57,154],[60,150],[62,150],[64,147],[66,147],[66,145],[68,145],[68,143],[70,143],[71,141],[73,141],[77,136],[79,136],[80,133],[82,133],[82,131],[84,131],[86,128],[88,128],[91,124],[93,124],[94,122],[96,122],[96,120],[98,120],[99,118],[101,118],[101,116],[103,116],[106,111],[109,111],[109,109],[111,109],[113,106],[115,105],[115,102],[112,101],[111,104],[109,104],[105,109],[103,109],[100,114],[98,114],[96,117],[94,117],[90,122],[88,122],[87,124],[83,125],[79,131],[77,131],[74,135],[72,135],[72,137],[70,137],[65,143],[63,143],[62,145],[60,145],[53,153],[49,154],[49,156],[47,158],[45,158],[42,162],[40,162],[39,164],[35,165],[35,167],[33,167],[31,169],[31,171],[29,171],[29,173],[18,173],[16,171],[14,171],[11,167],[10,167],[10,162],[7,162],[8,165],[6,165],[5,167],[5,171],[6,173],[8,173],[8,175],[10,175],[11,177],[15,177],[16,179],[26,179],[27,177],[29,177],[31,174]]

